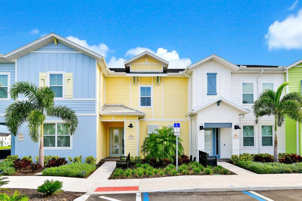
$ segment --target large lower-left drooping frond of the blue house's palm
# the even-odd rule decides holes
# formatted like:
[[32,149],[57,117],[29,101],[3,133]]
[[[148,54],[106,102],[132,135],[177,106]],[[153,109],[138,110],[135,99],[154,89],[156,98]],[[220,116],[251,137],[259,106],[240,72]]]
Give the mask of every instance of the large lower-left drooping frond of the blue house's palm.
[[5,109],[5,125],[14,136],[18,135],[18,130],[26,121],[31,110],[35,110],[37,105],[29,101],[15,101]]

